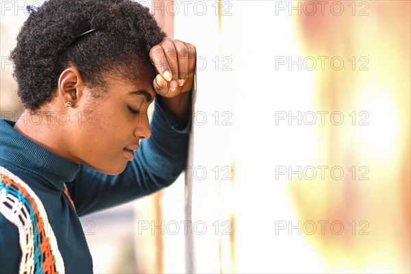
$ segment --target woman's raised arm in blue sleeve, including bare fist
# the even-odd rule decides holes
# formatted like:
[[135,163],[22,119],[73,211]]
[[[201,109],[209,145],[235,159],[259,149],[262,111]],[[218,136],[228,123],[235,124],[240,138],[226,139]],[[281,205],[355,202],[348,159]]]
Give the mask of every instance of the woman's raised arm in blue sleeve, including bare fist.
[[158,72],[153,79],[157,95],[151,138],[141,140],[136,157],[120,175],[81,167],[75,181],[67,186],[79,215],[149,195],[172,184],[184,169],[196,49],[187,42],[164,38],[149,54]]

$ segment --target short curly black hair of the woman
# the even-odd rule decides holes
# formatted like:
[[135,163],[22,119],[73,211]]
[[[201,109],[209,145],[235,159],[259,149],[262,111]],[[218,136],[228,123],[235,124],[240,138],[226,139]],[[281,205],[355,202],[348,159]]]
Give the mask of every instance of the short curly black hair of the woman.
[[104,86],[102,76],[113,71],[135,77],[137,63],[149,64],[151,47],[166,36],[149,9],[132,0],[49,0],[27,10],[10,58],[18,96],[32,112],[53,99],[67,67],[90,88]]

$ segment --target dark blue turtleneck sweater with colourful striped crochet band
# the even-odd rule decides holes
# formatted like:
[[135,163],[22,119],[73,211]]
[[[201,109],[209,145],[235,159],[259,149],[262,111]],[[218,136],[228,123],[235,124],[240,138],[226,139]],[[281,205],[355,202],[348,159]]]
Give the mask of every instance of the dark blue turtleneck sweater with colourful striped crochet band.
[[190,125],[155,99],[151,138],[112,176],[61,158],[0,120],[0,273],[92,273],[79,216],[172,184],[186,164]]

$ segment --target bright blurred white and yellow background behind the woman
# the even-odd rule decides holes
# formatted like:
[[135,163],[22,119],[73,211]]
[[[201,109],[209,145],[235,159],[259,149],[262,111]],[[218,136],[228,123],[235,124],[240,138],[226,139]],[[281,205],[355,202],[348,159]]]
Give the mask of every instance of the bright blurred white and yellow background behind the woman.
[[[1,1],[5,119],[42,2]],[[95,273],[411,272],[410,1],[139,2],[197,47],[188,166],[82,218]]]

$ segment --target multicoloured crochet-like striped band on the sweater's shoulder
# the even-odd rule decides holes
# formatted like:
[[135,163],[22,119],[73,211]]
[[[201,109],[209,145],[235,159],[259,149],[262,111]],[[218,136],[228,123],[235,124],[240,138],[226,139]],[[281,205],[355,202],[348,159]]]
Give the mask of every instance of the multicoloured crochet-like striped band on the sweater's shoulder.
[[0,213],[18,227],[22,251],[19,272],[64,273],[64,262],[40,199],[10,171],[2,167],[0,171]]

